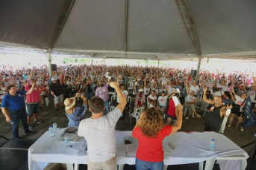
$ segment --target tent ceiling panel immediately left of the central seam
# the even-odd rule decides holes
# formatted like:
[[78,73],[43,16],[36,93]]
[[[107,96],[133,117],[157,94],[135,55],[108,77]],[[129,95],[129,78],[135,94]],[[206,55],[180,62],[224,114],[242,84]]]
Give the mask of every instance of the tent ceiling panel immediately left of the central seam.
[[124,50],[125,0],[76,0],[54,48]]

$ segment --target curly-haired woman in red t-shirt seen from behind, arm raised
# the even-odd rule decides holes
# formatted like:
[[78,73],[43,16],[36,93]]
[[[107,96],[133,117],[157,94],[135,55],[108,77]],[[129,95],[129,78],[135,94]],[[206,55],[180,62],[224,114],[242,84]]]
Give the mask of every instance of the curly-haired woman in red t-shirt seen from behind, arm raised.
[[140,115],[140,120],[132,131],[132,136],[139,141],[136,154],[136,169],[163,169],[162,141],[181,128],[182,105],[177,106],[176,125],[163,125],[162,117],[155,108],[149,108]]

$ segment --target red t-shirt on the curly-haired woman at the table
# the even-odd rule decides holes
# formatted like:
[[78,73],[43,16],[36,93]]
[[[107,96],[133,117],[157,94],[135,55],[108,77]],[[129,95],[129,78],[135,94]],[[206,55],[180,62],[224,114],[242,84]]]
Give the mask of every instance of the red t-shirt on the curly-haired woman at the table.
[[172,126],[166,125],[158,132],[156,138],[145,137],[140,128],[137,127],[132,131],[132,136],[139,141],[136,157],[139,160],[160,163],[163,161],[163,144],[164,137],[169,136],[172,132]]

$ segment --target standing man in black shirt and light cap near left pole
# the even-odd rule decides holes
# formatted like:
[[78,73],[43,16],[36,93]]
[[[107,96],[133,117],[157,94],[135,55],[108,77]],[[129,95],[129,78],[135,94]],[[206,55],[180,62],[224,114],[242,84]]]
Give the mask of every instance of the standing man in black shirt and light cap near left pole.
[[55,111],[59,111],[57,109],[57,105],[60,104],[61,108],[65,108],[63,106],[63,87],[59,83],[57,83],[56,77],[51,77],[51,85],[50,85],[50,91],[51,95],[54,96],[54,108]]

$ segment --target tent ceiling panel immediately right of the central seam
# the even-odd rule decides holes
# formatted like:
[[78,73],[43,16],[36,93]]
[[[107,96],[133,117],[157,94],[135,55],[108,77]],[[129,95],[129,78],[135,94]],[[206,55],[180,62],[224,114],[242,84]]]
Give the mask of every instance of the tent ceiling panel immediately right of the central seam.
[[196,54],[175,1],[130,0],[128,9],[128,51]]

